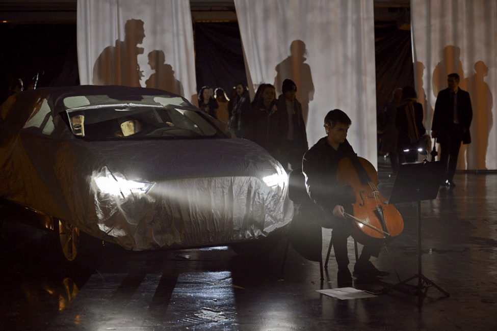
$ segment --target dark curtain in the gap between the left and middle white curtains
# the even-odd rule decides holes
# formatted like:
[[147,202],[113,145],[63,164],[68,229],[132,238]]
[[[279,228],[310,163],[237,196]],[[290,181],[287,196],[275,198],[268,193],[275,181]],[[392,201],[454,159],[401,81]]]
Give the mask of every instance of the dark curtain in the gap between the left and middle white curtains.
[[197,22],[194,29],[197,91],[220,87],[230,97],[232,87],[247,81],[238,22]]

